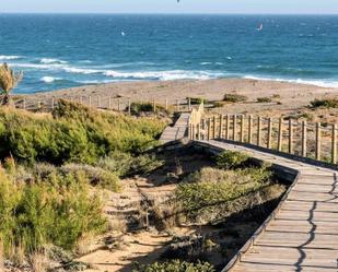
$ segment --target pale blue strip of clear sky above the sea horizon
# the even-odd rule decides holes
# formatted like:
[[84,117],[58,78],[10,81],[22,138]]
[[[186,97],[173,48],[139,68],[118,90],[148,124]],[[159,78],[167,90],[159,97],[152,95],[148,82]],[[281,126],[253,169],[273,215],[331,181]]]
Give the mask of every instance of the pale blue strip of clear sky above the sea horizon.
[[338,14],[338,0],[0,0],[0,12]]

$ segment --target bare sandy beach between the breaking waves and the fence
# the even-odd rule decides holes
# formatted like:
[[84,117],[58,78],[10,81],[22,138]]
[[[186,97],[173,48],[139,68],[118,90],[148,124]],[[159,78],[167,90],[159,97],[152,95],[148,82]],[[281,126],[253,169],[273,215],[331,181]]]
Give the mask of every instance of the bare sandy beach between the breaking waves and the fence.
[[[296,84],[278,81],[258,81],[246,79],[219,79],[219,80],[184,80],[184,81],[145,81],[145,82],[120,82],[109,84],[85,85],[68,90],[36,93],[27,96],[27,100],[48,100],[56,98],[82,99],[88,103],[92,97],[92,105],[97,105],[101,97],[103,106],[108,105],[108,97],[113,104],[117,98],[121,100],[150,102],[155,99],[159,104],[175,105],[176,99],[184,100],[186,97],[202,97],[208,100],[222,100],[224,94],[240,94],[248,97],[243,106],[226,105],[224,113],[257,113],[265,110],[294,110],[310,104],[314,98],[331,97],[338,94],[338,88],[319,87],[307,84]],[[257,103],[258,97],[272,97],[275,103]],[[278,103],[276,103],[278,102]]]

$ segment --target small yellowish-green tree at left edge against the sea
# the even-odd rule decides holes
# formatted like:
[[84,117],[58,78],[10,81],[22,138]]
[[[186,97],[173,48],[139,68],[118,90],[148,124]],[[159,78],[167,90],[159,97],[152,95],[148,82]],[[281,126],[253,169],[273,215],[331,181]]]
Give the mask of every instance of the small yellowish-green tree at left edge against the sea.
[[22,72],[15,73],[7,63],[0,66],[0,91],[2,95],[1,105],[10,105],[10,93],[22,80]]

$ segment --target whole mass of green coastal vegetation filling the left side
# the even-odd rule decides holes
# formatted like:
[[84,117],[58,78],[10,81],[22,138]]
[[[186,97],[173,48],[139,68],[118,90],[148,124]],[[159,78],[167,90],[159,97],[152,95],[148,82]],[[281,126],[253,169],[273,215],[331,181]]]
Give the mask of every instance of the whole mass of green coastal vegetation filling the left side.
[[101,191],[161,165],[142,153],[165,125],[66,100],[51,114],[0,108],[0,258],[34,267],[38,255],[75,252],[107,232]]

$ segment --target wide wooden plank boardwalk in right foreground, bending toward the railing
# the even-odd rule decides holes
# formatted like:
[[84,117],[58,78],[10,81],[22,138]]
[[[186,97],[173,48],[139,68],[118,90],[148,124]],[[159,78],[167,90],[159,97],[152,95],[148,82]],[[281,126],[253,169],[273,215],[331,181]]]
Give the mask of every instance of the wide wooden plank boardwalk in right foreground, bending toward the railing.
[[196,143],[299,173],[275,217],[223,272],[338,271],[338,172],[217,140]]

